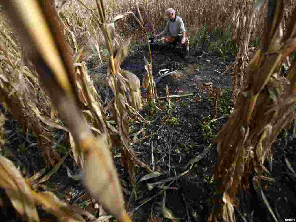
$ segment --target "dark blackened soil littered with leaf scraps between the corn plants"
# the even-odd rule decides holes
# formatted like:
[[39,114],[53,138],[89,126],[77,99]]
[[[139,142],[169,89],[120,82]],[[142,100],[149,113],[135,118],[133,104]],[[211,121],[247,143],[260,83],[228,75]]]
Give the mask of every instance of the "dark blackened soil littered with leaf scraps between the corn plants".
[[[173,70],[177,70],[175,75],[168,75],[157,83],[158,96],[166,95],[166,85],[168,85],[169,94],[193,93],[193,95],[172,98],[170,108],[166,99],[159,99],[157,105],[159,109],[152,117],[147,115],[148,110],[144,107],[141,115],[152,122],[150,125],[131,120],[130,134],[141,129],[144,129],[143,132],[146,136],[153,134],[148,139],[133,145],[139,159],[152,167],[153,148],[155,170],[162,172],[163,175],[139,182],[136,186],[135,200],[131,195],[133,189],[128,186],[128,176],[123,172],[120,158],[116,157],[116,167],[125,188],[126,203],[129,204],[129,211],[133,212],[133,221],[147,221],[151,212],[155,217],[158,217],[157,221],[170,221],[165,218],[160,219],[163,217],[161,205],[164,193],[153,197],[162,189],[155,187],[149,191],[147,185],[165,178],[178,176],[188,170],[190,166],[187,168],[182,168],[182,166],[211,146],[209,152],[199,162],[194,163],[188,173],[170,185],[166,194],[166,207],[177,218],[182,218],[181,221],[206,221],[212,207],[211,200],[215,197],[215,184],[210,183],[213,167],[217,161],[217,151],[215,144],[213,144],[213,138],[227,121],[227,117],[221,117],[230,114],[232,110],[230,102],[231,73],[221,73],[226,70],[226,65],[234,62],[235,58],[230,53],[225,53],[221,57],[218,54],[207,52],[205,48],[191,49],[188,59],[182,58],[181,49],[177,49],[177,52],[171,51],[170,47],[156,43],[154,43],[152,49],[152,72],[155,79],[159,77],[158,71],[161,69],[173,68]],[[147,46],[140,47],[138,52],[133,53],[133,55],[128,55],[121,68],[130,70],[142,81],[145,74],[144,56],[148,58]],[[194,67],[193,73],[190,72],[190,65]],[[91,78],[95,79],[98,75],[102,75],[104,78],[106,64],[92,67],[91,62],[89,62],[88,66],[91,70]],[[208,88],[203,90],[199,88],[200,83],[209,82],[213,84],[210,84]],[[107,93],[107,90],[99,83],[95,87],[102,95],[103,101],[110,99],[112,95],[110,89]],[[218,100],[218,120],[213,122],[210,122],[213,119],[213,98],[208,93],[211,91],[211,87],[220,87],[223,92],[222,97]],[[144,91],[142,95],[143,102],[145,102],[146,94]],[[8,113],[6,115],[9,117]],[[8,132],[6,138],[13,133],[17,133],[17,136],[15,135],[13,138],[19,138],[7,144],[7,149],[13,153],[11,158],[18,160],[16,164],[24,166],[29,174],[43,168],[44,162],[36,147],[30,147],[23,153],[20,148],[15,147],[20,147],[22,143],[24,147],[28,147],[29,144],[23,142],[25,135],[20,133],[17,124],[11,117],[7,120],[5,129]],[[60,138],[62,132],[56,135],[59,135],[57,137]],[[276,217],[281,218],[281,221],[284,221],[285,218],[296,219],[295,176],[288,170],[285,163],[285,158],[287,158],[292,168],[296,169],[296,140],[291,135],[292,131],[288,131],[287,136],[281,133],[275,141],[272,171],[269,176],[274,178],[274,181],[262,181],[263,193]],[[131,139],[141,139],[143,136],[144,134],[141,133],[136,138],[131,137]],[[32,140],[34,140],[33,137]],[[118,150],[114,150],[114,155],[118,153]],[[70,157],[67,158],[65,165],[73,171],[77,170],[73,167],[73,160]],[[88,200],[89,195],[83,190],[80,182],[73,181],[67,176],[65,165],[51,177],[47,186],[55,187],[55,193],[62,199],[66,199],[71,191],[72,196],[68,201],[81,204]],[[267,166],[267,168],[269,167]],[[137,168],[136,181],[139,181],[146,174],[147,172],[142,168]],[[251,175],[254,175],[254,173]],[[245,194],[245,198],[241,200],[240,208],[235,210],[237,221],[274,221],[260,197],[260,193],[257,194],[253,188],[252,177],[250,181],[250,193]],[[168,183],[165,185],[168,185]],[[81,196],[83,197],[80,198]],[[151,200],[137,208],[144,200],[151,197],[153,197]],[[98,213],[92,205],[87,206],[86,209],[91,213]]]

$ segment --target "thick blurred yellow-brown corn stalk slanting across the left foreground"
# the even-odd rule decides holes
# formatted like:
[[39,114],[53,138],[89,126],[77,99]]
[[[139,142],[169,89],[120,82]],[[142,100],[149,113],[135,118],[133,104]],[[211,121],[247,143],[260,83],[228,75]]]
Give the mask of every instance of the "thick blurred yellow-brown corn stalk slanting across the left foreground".
[[[84,152],[83,182],[91,195],[119,221],[130,221],[109,151],[108,135],[94,137],[81,110],[76,72],[69,48],[49,1],[1,1],[17,28],[26,54],[35,65],[54,107],[65,120],[77,147]],[[28,16],[28,15],[31,16]],[[36,22],[38,21],[38,22]]]

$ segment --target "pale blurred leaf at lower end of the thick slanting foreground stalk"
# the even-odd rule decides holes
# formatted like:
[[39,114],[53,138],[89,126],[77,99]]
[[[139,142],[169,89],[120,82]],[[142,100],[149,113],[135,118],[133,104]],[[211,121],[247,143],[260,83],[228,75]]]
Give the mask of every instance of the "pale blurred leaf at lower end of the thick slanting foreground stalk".
[[96,143],[94,147],[98,149],[91,149],[86,154],[83,183],[90,194],[96,200],[100,200],[104,209],[120,218],[124,213],[123,194],[106,135],[103,134],[93,142]]

